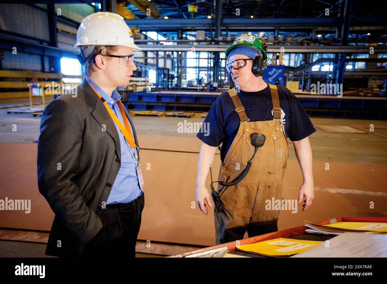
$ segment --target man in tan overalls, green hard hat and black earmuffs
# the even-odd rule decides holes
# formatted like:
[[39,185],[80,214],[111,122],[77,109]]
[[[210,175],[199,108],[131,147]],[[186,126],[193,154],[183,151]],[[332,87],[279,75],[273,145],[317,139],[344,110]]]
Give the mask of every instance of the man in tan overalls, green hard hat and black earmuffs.
[[288,141],[293,141],[303,173],[298,203],[305,196],[303,211],[314,198],[312,150],[308,136],[316,131],[295,95],[286,87],[262,80],[267,49],[255,36],[238,37],[226,50],[226,68],[235,88],[223,92],[212,105],[204,123],[209,132],[199,131],[203,141],[198,161],[196,201],[204,214],[212,198],[205,187],[209,167],[222,144],[219,181],[233,182],[252,158],[254,134],[264,134],[265,143],[252,159],[247,175],[228,187],[214,184],[223,211],[214,208],[216,244],[277,231],[279,210],[265,209],[267,200],[281,200],[283,177],[288,161]]

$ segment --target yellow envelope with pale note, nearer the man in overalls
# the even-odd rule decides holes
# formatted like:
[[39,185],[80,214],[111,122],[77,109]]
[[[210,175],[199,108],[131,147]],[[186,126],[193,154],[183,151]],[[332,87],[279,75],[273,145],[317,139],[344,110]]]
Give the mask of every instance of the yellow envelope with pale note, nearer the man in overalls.
[[245,252],[257,253],[272,257],[288,257],[309,248],[319,245],[322,241],[293,240],[277,238],[274,240],[260,241],[250,245],[240,245],[236,248]]

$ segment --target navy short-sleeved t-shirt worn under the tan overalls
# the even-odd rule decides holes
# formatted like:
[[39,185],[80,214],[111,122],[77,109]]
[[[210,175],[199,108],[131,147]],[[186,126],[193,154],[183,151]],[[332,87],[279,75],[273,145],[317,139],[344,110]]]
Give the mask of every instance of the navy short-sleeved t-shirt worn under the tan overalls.
[[[286,137],[291,141],[298,141],[315,132],[316,129],[307,112],[295,95],[284,86],[277,86],[277,90]],[[269,86],[259,92],[240,90],[238,96],[250,122],[273,120]],[[221,161],[223,163],[240,125],[238,113],[228,92],[223,92],[217,97],[204,123],[206,123],[205,126],[202,126],[196,136],[209,146],[217,147],[222,143]]]

